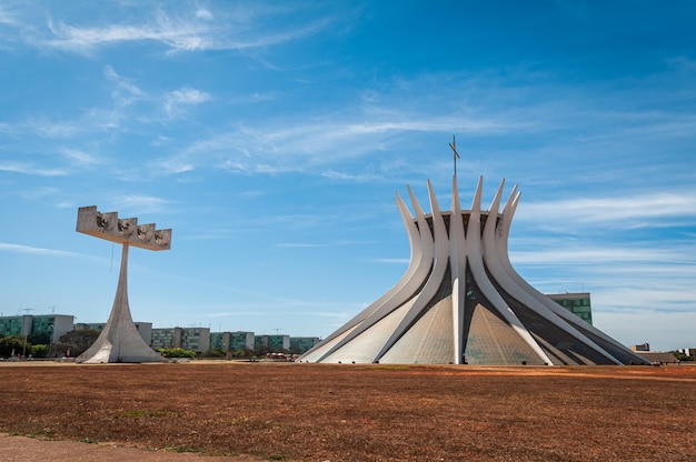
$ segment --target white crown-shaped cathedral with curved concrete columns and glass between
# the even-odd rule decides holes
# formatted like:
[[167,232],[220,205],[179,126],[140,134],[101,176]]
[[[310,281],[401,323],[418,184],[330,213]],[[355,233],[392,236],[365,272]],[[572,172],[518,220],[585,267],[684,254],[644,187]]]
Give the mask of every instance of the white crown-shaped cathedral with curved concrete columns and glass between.
[[428,181],[430,213],[408,189],[415,217],[397,194],[411,258],[404,277],[300,361],[454,364],[643,364],[647,361],[529,285],[510,264],[507,242],[517,187],[499,211],[500,184],[481,209],[483,178],[451,211]]

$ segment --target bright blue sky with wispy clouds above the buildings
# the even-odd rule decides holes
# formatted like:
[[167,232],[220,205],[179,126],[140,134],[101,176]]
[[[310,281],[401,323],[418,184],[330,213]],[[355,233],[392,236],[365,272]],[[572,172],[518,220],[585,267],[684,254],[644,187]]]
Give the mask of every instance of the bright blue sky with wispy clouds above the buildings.
[[394,203],[523,192],[510,260],[625,344],[696,346],[696,3],[3,1],[0,312],[326,337],[409,247]]

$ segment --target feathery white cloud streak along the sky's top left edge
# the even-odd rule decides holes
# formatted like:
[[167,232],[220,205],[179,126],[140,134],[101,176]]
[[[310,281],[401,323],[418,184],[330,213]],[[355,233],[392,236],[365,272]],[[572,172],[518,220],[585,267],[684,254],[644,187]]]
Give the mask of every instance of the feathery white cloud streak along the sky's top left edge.
[[[113,7],[113,6],[112,6]],[[318,18],[298,26],[279,22],[278,18],[291,14],[292,9],[274,8],[261,3],[238,6],[235,9],[175,10],[162,4],[157,9],[141,7],[137,20],[97,26],[80,26],[54,19],[46,22],[47,32],[38,24],[24,33],[31,46],[57,49],[79,54],[91,54],[101,48],[122,43],[152,42],[167,48],[168,52],[200,50],[248,50],[271,47],[310,37],[330,29],[332,18]],[[117,7],[113,18],[121,17]],[[7,10],[0,19],[14,24]]]

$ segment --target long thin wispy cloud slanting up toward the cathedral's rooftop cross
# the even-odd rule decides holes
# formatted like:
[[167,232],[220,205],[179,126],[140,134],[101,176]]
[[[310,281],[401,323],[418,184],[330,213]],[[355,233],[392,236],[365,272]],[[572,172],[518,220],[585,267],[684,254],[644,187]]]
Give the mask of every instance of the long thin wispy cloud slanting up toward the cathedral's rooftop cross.
[[[342,119],[342,123],[337,119]],[[238,125],[220,129],[217,134],[195,141],[179,153],[159,159],[157,162],[170,172],[199,168],[219,168],[247,173],[310,170],[327,178],[366,181],[380,178],[381,174],[339,172],[335,168],[326,169],[326,165],[337,165],[385,151],[387,148],[408,147],[408,137],[404,137],[405,133],[432,131],[451,133],[461,127],[468,127],[469,130],[480,133],[490,133],[504,130],[505,125],[491,120],[469,121],[451,116],[430,114],[412,118],[401,114],[401,120],[388,120],[385,116],[367,121],[364,119],[364,116],[357,114],[337,117],[327,113],[299,122],[284,118],[269,120],[265,127]]]

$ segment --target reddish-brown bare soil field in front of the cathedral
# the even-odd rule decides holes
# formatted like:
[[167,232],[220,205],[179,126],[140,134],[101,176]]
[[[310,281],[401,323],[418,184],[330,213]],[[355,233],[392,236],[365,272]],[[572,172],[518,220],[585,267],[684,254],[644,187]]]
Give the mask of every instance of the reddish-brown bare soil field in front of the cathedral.
[[[109,460],[84,455],[95,448],[140,450],[120,460],[187,462],[177,458],[604,462],[696,454],[696,366],[24,363],[0,364],[0,432],[69,441],[78,448],[72,460]],[[13,460],[2,451],[17,440],[0,438],[0,458]]]

